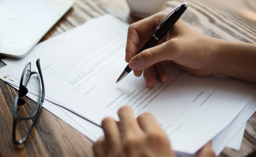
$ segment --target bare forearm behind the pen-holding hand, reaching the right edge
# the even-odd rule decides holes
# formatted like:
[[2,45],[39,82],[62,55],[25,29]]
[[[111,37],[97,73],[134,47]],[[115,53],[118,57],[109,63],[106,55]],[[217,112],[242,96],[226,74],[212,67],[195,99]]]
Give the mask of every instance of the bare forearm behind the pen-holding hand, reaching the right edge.
[[213,74],[256,83],[256,44],[216,39]]

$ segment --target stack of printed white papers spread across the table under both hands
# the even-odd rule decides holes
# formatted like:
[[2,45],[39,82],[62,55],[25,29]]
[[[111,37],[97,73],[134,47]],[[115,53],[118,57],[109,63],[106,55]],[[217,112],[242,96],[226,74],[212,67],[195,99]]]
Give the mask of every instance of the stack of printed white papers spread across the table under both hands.
[[[180,156],[194,155],[213,141],[216,155],[239,149],[245,124],[256,111],[256,85],[224,76],[197,77],[173,66],[168,80],[147,88],[143,77],[129,74],[118,84],[123,68],[128,24],[111,15],[38,44],[22,59],[6,58],[0,77],[19,88],[27,62],[40,58],[45,81],[43,107],[93,141],[104,135],[106,116],[130,104],[135,115],[150,111]],[[33,75],[32,75],[33,76]],[[28,97],[37,100],[37,79],[28,83]],[[100,99],[99,99],[100,98]]]

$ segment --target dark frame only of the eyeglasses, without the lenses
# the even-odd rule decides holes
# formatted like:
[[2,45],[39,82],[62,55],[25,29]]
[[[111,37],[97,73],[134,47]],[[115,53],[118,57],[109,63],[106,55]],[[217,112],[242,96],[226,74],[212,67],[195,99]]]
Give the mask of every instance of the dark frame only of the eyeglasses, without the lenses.
[[[14,144],[23,144],[26,141],[26,139],[30,135],[33,127],[35,126],[35,122],[37,121],[38,115],[41,111],[43,102],[45,100],[45,84],[43,81],[43,75],[42,75],[42,71],[41,71],[39,58],[36,60],[36,65],[37,65],[38,71],[31,71],[31,62],[28,62],[22,71],[22,75],[21,75],[21,79],[20,79],[19,95],[17,97],[15,97],[14,108],[13,108],[13,143]],[[23,85],[23,79],[25,77],[24,75],[27,71],[28,66],[30,66],[30,76],[27,79],[27,81],[25,82],[25,84]],[[25,105],[25,103],[26,103],[25,100],[22,99],[22,97],[28,93],[28,89],[26,88],[26,86],[28,84],[28,81],[30,80],[30,77],[33,74],[37,74],[37,80],[38,80],[38,84],[39,84],[37,106],[35,108],[33,115],[31,115],[29,117],[19,116],[18,115],[19,106]],[[42,96],[41,96],[41,84],[42,84]],[[21,137],[21,139],[18,141],[16,139],[16,124],[17,124],[17,122],[19,122],[21,120],[32,120],[32,124],[28,128],[28,131],[25,133],[25,135],[23,137]]]

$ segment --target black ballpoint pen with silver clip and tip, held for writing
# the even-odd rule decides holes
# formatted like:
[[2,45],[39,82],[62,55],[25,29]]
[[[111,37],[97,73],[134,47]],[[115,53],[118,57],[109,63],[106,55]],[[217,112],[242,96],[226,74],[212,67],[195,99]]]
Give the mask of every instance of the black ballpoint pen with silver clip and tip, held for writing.
[[[156,27],[156,32],[139,49],[137,54],[145,49],[156,46],[156,44],[161,40],[161,38],[165,36],[165,34],[171,29],[171,27],[178,21],[180,16],[186,11],[187,7],[188,5],[186,3],[183,3],[181,5],[178,5],[170,13],[168,13]],[[120,82],[131,71],[132,69],[130,69],[129,65],[127,65],[124,71],[117,79],[117,82]]]

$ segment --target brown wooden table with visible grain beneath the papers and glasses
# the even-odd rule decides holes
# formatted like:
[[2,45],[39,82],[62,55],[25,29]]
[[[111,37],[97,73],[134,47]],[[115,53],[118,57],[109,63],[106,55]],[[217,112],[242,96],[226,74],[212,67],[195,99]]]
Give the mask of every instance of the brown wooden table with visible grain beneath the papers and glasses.
[[[171,10],[182,0],[169,0],[166,9]],[[215,5],[210,0],[187,0],[189,8],[182,16],[187,24],[198,31],[216,38],[256,42],[256,26]],[[79,26],[90,18],[112,14],[128,23],[139,19],[130,16],[125,0],[76,0],[68,13],[42,38],[41,41]],[[4,57],[0,57],[4,58]],[[0,61],[0,67],[5,64]],[[45,109],[28,141],[16,148],[11,139],[13,103],[17,90],[0,80],[0,157],[10,156],[93,156],[92,141]],[[35,102],[28,99],[28,105]],[[256,113],[247,122],[240,151],[224,149],[220,156],[246,156],[256,151]]]

